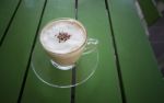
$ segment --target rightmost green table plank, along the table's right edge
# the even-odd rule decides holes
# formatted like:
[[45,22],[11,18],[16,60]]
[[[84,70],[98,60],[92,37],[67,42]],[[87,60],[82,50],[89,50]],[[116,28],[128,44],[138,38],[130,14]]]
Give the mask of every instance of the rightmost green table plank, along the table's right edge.
[[157,68],[132,0],[108,0],[127,103],[164,103]]

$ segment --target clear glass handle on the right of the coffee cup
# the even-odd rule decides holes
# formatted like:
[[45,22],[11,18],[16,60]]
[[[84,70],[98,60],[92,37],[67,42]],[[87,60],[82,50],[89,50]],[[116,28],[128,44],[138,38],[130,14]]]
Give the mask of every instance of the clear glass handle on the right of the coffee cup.
[[92,52],[97,49],[98,39],[96,38],[87,38],[86,46],[82,55],[91,54]]

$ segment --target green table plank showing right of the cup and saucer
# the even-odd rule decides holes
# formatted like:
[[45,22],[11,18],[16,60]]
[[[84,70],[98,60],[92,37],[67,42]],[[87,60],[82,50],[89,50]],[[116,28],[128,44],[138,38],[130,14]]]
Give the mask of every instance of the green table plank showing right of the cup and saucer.
[[79,21],[86,27],[89,37],[99,42],[99,59],[95,73],[75,88],[75,103],[121,103],[105,1],[79,0],[78,12]]

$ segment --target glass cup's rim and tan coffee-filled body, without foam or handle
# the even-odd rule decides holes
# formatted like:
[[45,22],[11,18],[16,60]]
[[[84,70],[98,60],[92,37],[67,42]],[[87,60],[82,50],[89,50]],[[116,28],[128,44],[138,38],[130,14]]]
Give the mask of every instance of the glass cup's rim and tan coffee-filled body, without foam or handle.
[[60,70],[69,70],[72,69],[75,66],[75,62],[78,61],[78,59],[81,57],[82,53],[84,52],[84,48],[87,44],[87,36],[86,36],[86,31],[84,28],[84,26],[77,20],[73,19],[59,19],[59,20],[55,20],[49,22],[42,31],[40,35],[43,35],[44,31],[46,31],[49,26],[56,25],[57,22],[71,22],[74,23],[77,26],[79,26],[80,30],[83,31],[83,36],[84,36],[84,42],[82,43],[82,45],[77,48],[73,49],[72,52],[66,53],[66,54],[60,54],[60,53],[55,53],[55,52],[50,52],[49,49],[47,49],[42,41],[40,44],[44,48],[44,50],[47,53],[48,57],[49,57],[49,61],[52,64],[52,66],[55,66],[56,68],[60,69]]

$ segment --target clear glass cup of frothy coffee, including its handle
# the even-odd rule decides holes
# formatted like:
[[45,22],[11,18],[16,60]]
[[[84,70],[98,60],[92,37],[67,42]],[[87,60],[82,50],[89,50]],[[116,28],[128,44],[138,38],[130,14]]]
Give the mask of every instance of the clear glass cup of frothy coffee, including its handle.
[[50,62],[60,70],[73,68],[79,58],[97,44],[97,39],[87,38],[82,23],[69,18],[49,22],[42,30],[39,41]]

